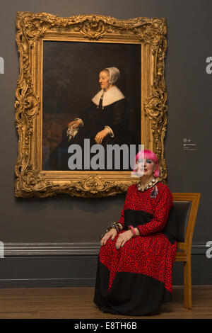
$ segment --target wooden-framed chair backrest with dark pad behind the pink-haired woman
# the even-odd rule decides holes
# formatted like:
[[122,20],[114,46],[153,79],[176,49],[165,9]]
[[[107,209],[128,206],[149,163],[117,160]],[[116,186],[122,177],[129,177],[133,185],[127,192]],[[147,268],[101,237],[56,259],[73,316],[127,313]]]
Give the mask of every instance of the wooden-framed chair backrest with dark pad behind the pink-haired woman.
[[172,193],[177,214],[177,247],[191,252],[201,193]]

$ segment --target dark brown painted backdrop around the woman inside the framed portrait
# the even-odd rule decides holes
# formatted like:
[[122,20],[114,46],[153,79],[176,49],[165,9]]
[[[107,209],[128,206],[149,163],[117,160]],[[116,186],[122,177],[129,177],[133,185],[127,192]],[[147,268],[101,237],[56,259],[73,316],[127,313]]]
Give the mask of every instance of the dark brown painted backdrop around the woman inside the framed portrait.
[[[55,169],[51,163],[45,164],[48,154],[61,142],[68,123],[81,117],[81,113],[90,106],[91,99],[101,90],[99,73],[107,67],[117,67],[120,71],[120,78],[114,85],[122,91],[128,103],[133,136],[131,143],[141,143],[141,45],[45,40],[42,75],[43,170]],[[68,154],[64,155],[69,158]],[[68,162],[64,164],[69,170]]]

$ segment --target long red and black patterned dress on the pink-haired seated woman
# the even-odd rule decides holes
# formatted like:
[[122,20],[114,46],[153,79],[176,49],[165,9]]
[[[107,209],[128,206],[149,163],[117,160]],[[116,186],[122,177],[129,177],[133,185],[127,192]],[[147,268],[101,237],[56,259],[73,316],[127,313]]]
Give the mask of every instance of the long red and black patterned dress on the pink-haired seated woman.
[[173,199],[160,182],[146,191],[129,186],[119,223],[140,236],[116,249],[117,237],[100,248],[94,303],[121,315],[149,315],[172,299],[172,266],[177,250],[176,223],[169,214]]

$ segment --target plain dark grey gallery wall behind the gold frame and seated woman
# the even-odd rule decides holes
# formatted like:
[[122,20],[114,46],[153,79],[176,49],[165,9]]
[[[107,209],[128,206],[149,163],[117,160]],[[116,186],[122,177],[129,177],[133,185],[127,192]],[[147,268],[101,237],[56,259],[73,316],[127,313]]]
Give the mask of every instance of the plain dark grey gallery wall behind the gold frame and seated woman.
[[[8,0],[1,1],[0,6],[0,56],[5,63],[5,74],[0,74],[0,240],[11,247],[16,245],[12,257],[0,259],[0,286],[93,286],[98,237],[105,226],[119,218],[124,203],[124,195],[98,199],[15,198],[16,11],[44,11],[63,17],[95,13],[119,19],[167,19],[167,184],[172,192],[202,193],[192,247],[192,281],[211,284],[212,259],[206,258],[206,242],[212,240],[212,74],[206,73],[206,58],[212,56],[211,0]],[[185,139],[194,145],[187,147],[194,150],[185,149]],[[58,251],[52,243],[59,243]],[[60,251],[65,243],[69,251]],[[55,249],[52,256],[50,249]],[[173,282],[182,283],[181,263],[175,263]]]

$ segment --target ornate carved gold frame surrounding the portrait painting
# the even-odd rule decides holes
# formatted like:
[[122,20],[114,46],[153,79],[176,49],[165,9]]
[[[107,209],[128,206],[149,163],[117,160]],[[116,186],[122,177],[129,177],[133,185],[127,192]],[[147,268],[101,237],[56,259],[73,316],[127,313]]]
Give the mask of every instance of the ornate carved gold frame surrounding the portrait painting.
[[130,171],[96,171],[92,174],[89,171],[42,171],[42,40],[141,45],[141,144],[157,155],[160,180],[165,181],[165,18],[139,17],[122,21],[100,15],[59,18],[49,13],[18,12],[16,27],[20,55],[15,103],[19,136],[16,197],[45,198],[57,193],[84,198],[114,196],[124,193],[139,180],[131,178]]

